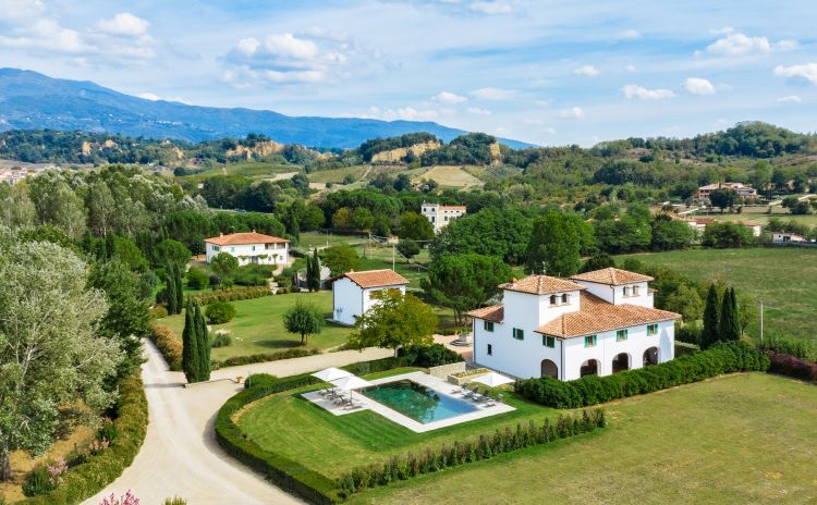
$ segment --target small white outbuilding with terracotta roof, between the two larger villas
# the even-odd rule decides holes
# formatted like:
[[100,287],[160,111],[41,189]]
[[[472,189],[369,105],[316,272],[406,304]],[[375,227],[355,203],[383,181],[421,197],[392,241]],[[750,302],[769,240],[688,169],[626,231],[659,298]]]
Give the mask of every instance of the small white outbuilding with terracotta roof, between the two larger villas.
[[377,304],[386,290],[405,293],[408,281],[393,270],[368,270],[346,272],[332,282],[332,317],[342,324],[354,324],[355,320]]

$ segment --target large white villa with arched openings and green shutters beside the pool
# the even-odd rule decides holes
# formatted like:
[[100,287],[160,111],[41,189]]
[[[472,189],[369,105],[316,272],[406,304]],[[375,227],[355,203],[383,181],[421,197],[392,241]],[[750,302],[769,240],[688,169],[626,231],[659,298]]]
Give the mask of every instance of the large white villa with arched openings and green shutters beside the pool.
[[474,361],[521,379],[562,381],[669,361],[681,316],[653,308],[649,281],[608,268],[502,284],[501,305],[468,313]]

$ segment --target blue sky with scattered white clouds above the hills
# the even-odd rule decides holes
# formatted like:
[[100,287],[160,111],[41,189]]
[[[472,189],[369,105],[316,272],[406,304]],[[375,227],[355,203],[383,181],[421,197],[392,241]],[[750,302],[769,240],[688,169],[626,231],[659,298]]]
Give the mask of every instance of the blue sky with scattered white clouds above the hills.
[[0,0],[0,64],[293,115],[540,145],[815,131],[813,1]]

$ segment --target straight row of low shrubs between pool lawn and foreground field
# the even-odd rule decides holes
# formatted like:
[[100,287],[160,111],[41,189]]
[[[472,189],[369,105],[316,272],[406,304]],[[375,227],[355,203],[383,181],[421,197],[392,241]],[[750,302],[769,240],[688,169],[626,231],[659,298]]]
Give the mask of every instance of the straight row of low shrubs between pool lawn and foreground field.
[[417,455],[413,453],[395,455],[381,463],[354,468],[338,480],[338,488],[340,488],[341,496],[347,497],[367,488],[388,485],[395,481],[434,473],[448,467],[490,459],[499,454],[589,433],[596,428],[606,426],[605,411],[600,408],[590,414],[583,410],[581,416],[560,415],[554,424],[550,422],[550,419],[545,419],[541,426],[531,420],[527,426],[517,423],[515,431],[508,427],[503,431],[497,430],[493,434],[470,438],[464,443],[454,442],[450,446],[442,445],[437,451],[426,447]]

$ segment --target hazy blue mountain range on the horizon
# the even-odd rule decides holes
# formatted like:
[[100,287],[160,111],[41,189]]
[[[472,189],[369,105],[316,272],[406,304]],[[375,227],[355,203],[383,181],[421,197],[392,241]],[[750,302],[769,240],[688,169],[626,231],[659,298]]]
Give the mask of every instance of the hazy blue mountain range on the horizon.
[[[291,116],[266,110],[154,101],[87,81],[0,69],[0,131],[40,128],[190,141],[261,133],[281,144],[322,148],[352,148],[370,138],[413,132],[428,132],[446,141],[467,133],[435,122]],[[529,146],[511,139],[500,141],[515,148]]]

